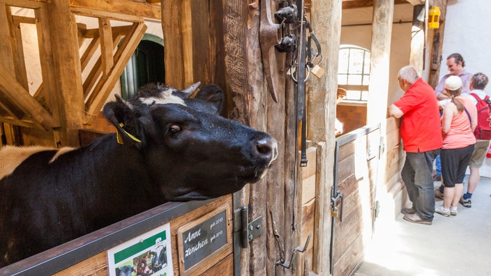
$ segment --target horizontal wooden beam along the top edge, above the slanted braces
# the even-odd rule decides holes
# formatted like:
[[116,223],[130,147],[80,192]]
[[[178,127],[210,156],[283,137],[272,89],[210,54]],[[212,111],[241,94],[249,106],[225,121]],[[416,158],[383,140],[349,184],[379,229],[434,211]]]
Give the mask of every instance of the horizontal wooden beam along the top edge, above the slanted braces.
[[70,0],[70,7],[74,13],[130,22],[140,22],[142,21],[141,17],[156,20],[162,18],[160,5],[137,3],[128,0]]

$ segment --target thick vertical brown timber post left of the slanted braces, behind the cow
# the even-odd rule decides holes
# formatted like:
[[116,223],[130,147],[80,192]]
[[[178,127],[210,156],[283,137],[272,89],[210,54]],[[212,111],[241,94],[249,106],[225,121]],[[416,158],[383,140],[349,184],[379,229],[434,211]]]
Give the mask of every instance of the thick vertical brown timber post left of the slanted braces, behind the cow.
[[60,128],[65,130],[55,129],[55,142],[59,146],[78,146],[78,130],[84,123],[84,91],[80,77],[77,22],[75,15],[70,13],[69,0],[50,1],[47,10],[56,77],[56,90],[50,93],[58,102]]

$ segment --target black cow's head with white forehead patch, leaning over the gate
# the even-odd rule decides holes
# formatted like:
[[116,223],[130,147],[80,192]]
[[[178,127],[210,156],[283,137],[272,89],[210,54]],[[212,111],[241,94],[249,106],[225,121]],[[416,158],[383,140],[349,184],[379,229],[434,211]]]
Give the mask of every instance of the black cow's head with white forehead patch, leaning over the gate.
[[219,86],[204,86],[190,98],[194,90],[150,84],[131,100],[116,97],[104,107],[121,146],[144,156],[147,173],[168,201],[236,192],[259,181],[278,156],[273,137],[219,115]]

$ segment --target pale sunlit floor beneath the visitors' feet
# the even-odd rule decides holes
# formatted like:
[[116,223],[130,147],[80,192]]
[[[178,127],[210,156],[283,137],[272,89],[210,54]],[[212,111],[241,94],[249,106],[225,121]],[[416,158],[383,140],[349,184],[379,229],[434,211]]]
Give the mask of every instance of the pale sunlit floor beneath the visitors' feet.
[[[455,217],[435,214],[431,226],[406,222],[398,215],[392,224],[377,228],[354,275],[491,275],[491,160],[487,159],[471,208],[459,204]],[[435,182],[435,187],[439,185]]]

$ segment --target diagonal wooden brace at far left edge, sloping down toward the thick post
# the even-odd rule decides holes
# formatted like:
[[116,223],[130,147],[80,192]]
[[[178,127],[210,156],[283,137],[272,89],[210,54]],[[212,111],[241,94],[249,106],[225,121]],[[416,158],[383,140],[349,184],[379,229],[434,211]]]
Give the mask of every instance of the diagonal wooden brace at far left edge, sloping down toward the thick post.
[[44,109],[38,101],[31,97],[29,91],[22,84],[13,81],[15,77],[0,65],[0,90],[10,102],[17,102],[22,112],[29,114],[33,120],[43,125],[45,130],[54,127],[52,116]]

